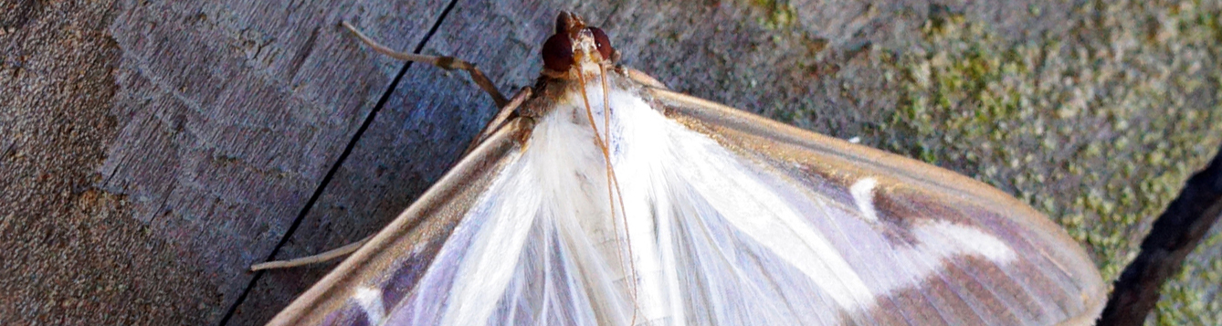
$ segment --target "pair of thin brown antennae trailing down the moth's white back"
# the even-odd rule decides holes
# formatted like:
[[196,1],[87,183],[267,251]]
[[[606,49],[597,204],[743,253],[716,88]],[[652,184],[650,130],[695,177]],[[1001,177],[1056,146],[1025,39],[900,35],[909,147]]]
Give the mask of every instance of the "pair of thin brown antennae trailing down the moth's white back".
[[[611,106],[610,106],[610,100],[607,99],[609,94],[606,92],[607,90],[607,88],[606,88],[606,71],[601,70],[601,66],[600,66],[600,72],[602,72],[602,82],[604,82],[602,83],[602,104],[604,104],[604,106],[602,106],[602,110],[604,110],[602,111],[602,121],[604,121],[602,126],[606,128],[605,129],[606,131],[606,137],[610,138],[611,137],[611,126],[610,126],[611,125],[611,122],[610,122],[611,121],[611,118],[610,118],[610,107]],[[590,122],[590,128],[594,129],[594,143],[596,145],[599,145],[599,149],[602,151],[602,161],[606,164],[605,166],[606,166],[606,171],[607,171],[607,175],[606,175],[607,176],[607,201],[610,201],[607,204],[610,204],[609,208],[611,209],[611,219],[615,219],[616,198],[620,199],[618,200],[620,201],[620,210],[623,211],[623,212],[621,212],[623,215],[623,236],[624,236],[624,241],[627,242],[627,247],[628,247],[628,259],[627,259],[627,261],[628,261],[628,272],[626,272],[626,277],[628,277],[628,280],[629,280],[629,284],[631,286],[628,287],[628,291],[631,292],[629,295],[632,295],[632,305],[633,305],[633,309],[632,309],[632,321],[629,322],[629,325],[635,325],[637,324],[637,313],[640,310],[640,306],[637,303],[637,295],[638,295],[637,294],[637,264],[633,261],[633,258],[635,255],[633,255],[633,253],[632,253],[632,236],[631,236],[631,232],[628,232],[628,215],[627,215],[627,209],[623,205],[623,192],[620,190],[620,181],[618,181],[618,178],[616,178],[615,168],[611,167],[611,151],[607,150],[607,147],[609,147],[607,143],[606,143],[607,138],[604,138],[602,134],[599,133],[599,126],[594,122],[594,111],[590,109],[590,98],[585,93],[585,76],[583,76],[580,72],[578,72],[576,74],[577,74],[577,82],[582,87],[582,100],[585,103],[585,118]],[[618,194],[618,197],[617,197],[617,194]],[[611,221],[611,227],[612,227],[612,230],[617,228],[615,226],[615,221]],[[616,250],[616,253],[620,253],[620,252]],[[620,260],[621,261],[624,260],[622,255],[620,256]],[[621,266],[623,266],[623,265],[621,265]]]

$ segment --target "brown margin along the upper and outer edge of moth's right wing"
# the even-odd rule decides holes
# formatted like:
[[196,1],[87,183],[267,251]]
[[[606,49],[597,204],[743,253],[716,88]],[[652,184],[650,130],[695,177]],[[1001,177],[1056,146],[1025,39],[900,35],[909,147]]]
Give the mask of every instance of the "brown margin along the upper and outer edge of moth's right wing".
[[[893,203],[908,201],[912,198],[938,198],[959,204],[987,203],[990,206],[987,210],[1003,212],[1001,219],[1006,219],[1004,222],[1029,231],[1018,234],[1028,238],[1023,241],[1050,244],[1035,245],[1037,253],[1024,253],[1024,256],[1046,258],[1051,264],[1045,266],[1059,269],[1068,275],[1073,286],[1080,289],[1079,295],[1073,295],[1078,298],[1058,303],[1069,310],[1068,319],[1059,324],[1094,324],[1103,306],[1106,287],[1081,247],[1042,214],[996,188],[920,161],[799,129],[708,100],[656,88],[645,88],[643,93],[660,106],[667,117],[714,138],[727,148],[742,151],[754,160],[767,161],[772,168],[786,170],[791,172],[789,175],[794,175],[792,173],[794,171],[798,175],[803,171],[814,171],[808,175],[818,175],[818,178],[826,182],[838,183],[842,193],[854,179],[863,176],[886,176],[880,184],[904,187],[880,190],[887,193],[879,194],[884,197],[880,199],[884,201],[879,204],[885,205],[888,200],[886,197],[893,197],[890,198],[895,199]],[[909,203],[899,205],[909,205],[910,209]],[[1031,292],[1036,293],[1035,297],[1046,294],[1040,291]],[[908,309],[902,304],[897,308]],[[915,321],[924,322],[919,319]],[[908,322],[914,320],[908,319]]]

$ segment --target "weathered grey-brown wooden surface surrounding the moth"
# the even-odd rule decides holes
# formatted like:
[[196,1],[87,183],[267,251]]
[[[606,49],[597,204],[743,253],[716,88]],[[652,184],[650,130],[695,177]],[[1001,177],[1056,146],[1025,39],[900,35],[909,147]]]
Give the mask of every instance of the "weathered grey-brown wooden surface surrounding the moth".
[[[495,107],[464,74],[423,65],[411,66],[390,89],[404,63],[359,45],[338,27],[341,20],[396,49],[423,46],[425,54],[473,61],[512,93],[538,73],[535,54],[556,12],[572,10],[609,32],[624,63],[675,89],[914,155],[926,144],[893,139],[921,134],[891,127],[896,107],[919,93],[908,88],[929,83],[919,82],[913,72],[920,70],[903,57],[937,57],[930,24],[953,26],[948,17],[986,22],[992,42],[1006,46],[1090,33],[1106,35],[1081,43],[1106,44],[1111,35],[1096,31],[1106,20],[1089,18],[1111,13],[1075,9],[1081,4],[1073,1],[254,2],[266,4],[0,2],[0,192],[17,199],[0,203],[0,291],[16,293],[0,299],[0,324],[259,324],[334,264],[258,277],[244,272],[247,265],[266,259],[285,237],[280,259],[360,239],[411,204]],[[1166,9],[1149,11],[1162,17]],[[1149,59],[1154,72],[1128,73],[1151,79],[1141,73],[1157,73],[1158,62],[1183,56],[1158,55]],[[1058,66],[1044,63],[1055,59],[1022,60],[1035,61],[1030,70],[1057,73],[1051,81],[1059,84]],[[1218,77],[1207,71],[1217,62],[1199,55],[1184,61],[1163,66],[1180,72],[1198,62],[1206,72],[1198,77],[1204,85],[1182,93],[1215,94]],[[1058,101],[1072,99],[1044,100],[1052,104],[1040,105],[1056,111]],[[971,109],[979,99],[962,103]],[[1213,114],[1216,98],[1184,103],[1177,105],[1202,112],[1196,120],[1222,117]],[[1183,126],[1190,116],[1151,122],[1156,115],[1139,115],[1133,126],[1167,138],[1217,131]],[[948,139],[949,150],[1000,159],[934,158],[1013,193],[1046,189],[1036,195],[1056,198],[1058,208],[1095,190],[1118,197],[1122,190],[1086,182],[1088,172],[1068,167],[1097,160],[1079,159],[1074,153],[1081,148],[1125,137],[1116,120],[1083,114],[1066,121],[1083,126],[1058,138],[1070,154],[1037,142]],[[1196,145],[1217,148],[1216,138],[1207,140],[1213,144]],[[336,166],[349,143],[351,154]],[[1006,147],[1040,155],[1037,164],[1008,164],[1014,154],[989,150]],[[1188,154],[1167,156],[1202,150],[1182,151]],[[1202,156],[1184,165],[1195,168],[1209,158]],[[1001,172],[982,173],[989,168]],[[1083,182],[1013,178],[1033,171],[1068,171]],[[1162,175],[1178,176],[1152,168],[1122,181],[1138,184]],[[1149,190],[1174,195],[1177,189]],[[1061,221],[1083,210],[1036,208]],[[1105,217],[1085,216],[1088,226]],[[1134,239],[1132,248],[1141,223],[1149,223],[1143,219],[1124,233]],[[1090,237],[1089,248],[1097,249]]]

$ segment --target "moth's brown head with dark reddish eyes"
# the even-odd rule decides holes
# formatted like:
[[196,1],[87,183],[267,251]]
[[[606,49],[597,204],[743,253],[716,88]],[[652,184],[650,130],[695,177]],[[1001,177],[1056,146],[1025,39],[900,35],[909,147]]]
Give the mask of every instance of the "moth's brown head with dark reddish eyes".
[[582,17],[567,11],[556,17],[556,34],[543,44],[544,74],[554,78],[598,74],[617,60],[620,54],[602,29],[587,27]]

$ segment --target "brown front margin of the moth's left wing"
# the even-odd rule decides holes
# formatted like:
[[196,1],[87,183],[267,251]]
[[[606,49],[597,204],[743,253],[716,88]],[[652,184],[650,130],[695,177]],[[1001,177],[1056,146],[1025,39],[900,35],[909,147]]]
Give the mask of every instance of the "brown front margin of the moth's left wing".
[[357,303],[352,299],[360,287],[379,289],[379,302],[393,305],[411,291],[472,203],[519,158],[522,139],[533,127],[529,118],[514,118],[488,136],[395,221],[268,325],[364,324],[365,311],[353,310]]

